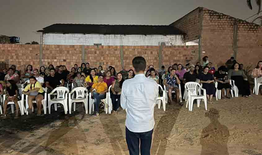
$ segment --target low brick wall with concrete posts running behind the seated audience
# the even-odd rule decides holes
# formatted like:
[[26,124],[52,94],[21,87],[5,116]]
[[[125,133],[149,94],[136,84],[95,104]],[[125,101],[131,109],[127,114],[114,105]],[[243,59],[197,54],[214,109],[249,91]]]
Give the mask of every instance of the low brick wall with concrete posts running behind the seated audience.
[[[117,71],[122,69],[120,51],[122,48],[123,62],[126,69],[131,69],[132,60],[135,56],[143,56],[147,66],[153,64],[158,69],[159,46],[84,46],[84,62],[89,62],[90,67],[103,66],[108,69],[109,65]],[[187,62],[195,64],[198,58],[198,46],[165,46],[162,51],[162,64],[166,67],[174,63],[185,65]],[[197,54],[196,54],[197,53]],[[15,64],[18,70],[32,64],[33,68],[40,67],[40,45],[15,45],[0,44],[0,61],[9,65]],[[43,45],[42,64],[65,65],[70,70],[74,64],[82,63],[81,45]]]

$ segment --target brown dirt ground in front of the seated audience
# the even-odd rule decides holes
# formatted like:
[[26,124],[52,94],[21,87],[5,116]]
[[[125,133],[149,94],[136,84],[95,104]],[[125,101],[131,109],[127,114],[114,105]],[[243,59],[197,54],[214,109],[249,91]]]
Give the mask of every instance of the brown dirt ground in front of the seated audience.
[[[262,155],[261,95],[234,97],[207,105],[155,107],[152,155]],[[0,154],[125,155],[125,110],[92,117],[82,104],[65,115],[0,120]]]

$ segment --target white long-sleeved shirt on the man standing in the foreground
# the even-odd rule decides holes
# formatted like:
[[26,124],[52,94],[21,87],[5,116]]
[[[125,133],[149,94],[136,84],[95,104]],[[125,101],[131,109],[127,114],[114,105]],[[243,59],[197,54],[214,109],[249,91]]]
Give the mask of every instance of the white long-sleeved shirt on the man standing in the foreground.
[[121,107],[127,109],[126,126],[132,132],[147,132],[154,128],[154,106],[158,97],[158,84],[144,74],[124,81]]

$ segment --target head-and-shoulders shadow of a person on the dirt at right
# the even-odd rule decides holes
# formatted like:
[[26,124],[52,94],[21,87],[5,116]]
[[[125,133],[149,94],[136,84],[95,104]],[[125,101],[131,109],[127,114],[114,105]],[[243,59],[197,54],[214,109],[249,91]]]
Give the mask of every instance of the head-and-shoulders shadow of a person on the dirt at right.
[[205,116],[210,119],[210,124],[202,130],[200,139],[202,145],[201,155],[229,155],[229,130],[227,126],[220,124],[218,121],[218,110],[211,108],[205,113]]

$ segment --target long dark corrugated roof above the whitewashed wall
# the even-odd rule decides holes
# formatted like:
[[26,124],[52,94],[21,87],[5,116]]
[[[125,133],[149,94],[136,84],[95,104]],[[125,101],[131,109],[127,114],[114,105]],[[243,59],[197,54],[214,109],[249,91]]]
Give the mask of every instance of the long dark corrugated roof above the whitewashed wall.
[[43,33],[86,33],[86,34],[161,34],[185,35],[171,25],[108,25],[108,24],[53,24],[38,30]]

